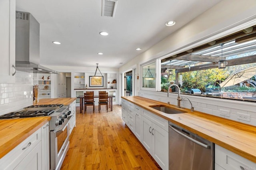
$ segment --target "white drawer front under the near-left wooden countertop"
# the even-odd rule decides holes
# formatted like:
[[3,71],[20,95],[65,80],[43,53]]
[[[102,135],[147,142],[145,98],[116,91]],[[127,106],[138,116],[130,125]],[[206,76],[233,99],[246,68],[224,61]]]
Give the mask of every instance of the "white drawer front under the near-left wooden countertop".
[[0,169],[14,169],[21,160],[41,141],[41,128],[0,159]]

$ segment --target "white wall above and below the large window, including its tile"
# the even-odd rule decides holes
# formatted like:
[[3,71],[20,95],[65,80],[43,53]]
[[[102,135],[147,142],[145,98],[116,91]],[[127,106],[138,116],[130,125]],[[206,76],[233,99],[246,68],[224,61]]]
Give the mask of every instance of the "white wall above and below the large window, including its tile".
[[[119,72],[122,73],[125,70],[131,69],[135,64],[137,65],[136,68],[140,75],[140,64],[145,63],[146,61],[175,55],[244,28],[254,26],[256,25],[255,11],[255,0],[222,0],[216,6],[198,16],[174,34],[166,37],[164,40],[153,45],[150,49],[120,67]],[[140,89],[140,81],[141,76],[136,82],[136,88],[138,89]],[[177,105],[177,96],[175,94],[167,98],[166,93],[138,90],[136,95],[157,101],[171,101],[172,104]],[[195,106],[196,111],[219,117],[224,117],[223,115],[220,115],[220,110],[229,111],[230,116],[226,116],[226,119],[256,126],[256,113],[254,111],[256,106],[255,103],[193,96],[189,96],[189,98]],[[183,101],[182,107],[190,108],[189,102]],[[237,119],[237,113],[251,115],[251,121],[248,122]]]

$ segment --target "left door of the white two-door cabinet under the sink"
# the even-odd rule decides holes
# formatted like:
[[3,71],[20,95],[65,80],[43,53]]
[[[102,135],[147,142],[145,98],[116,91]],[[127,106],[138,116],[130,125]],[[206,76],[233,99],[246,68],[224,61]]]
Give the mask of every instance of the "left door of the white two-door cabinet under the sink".
[[142,117],[142,144],[152,154],[152,122]]

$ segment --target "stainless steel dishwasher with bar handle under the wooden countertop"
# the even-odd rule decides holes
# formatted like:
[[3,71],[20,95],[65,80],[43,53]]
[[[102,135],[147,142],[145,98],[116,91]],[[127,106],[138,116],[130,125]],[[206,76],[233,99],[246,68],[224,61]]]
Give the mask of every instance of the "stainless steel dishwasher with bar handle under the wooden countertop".
[[214,170],[214,144],[169,122],[169,170]]

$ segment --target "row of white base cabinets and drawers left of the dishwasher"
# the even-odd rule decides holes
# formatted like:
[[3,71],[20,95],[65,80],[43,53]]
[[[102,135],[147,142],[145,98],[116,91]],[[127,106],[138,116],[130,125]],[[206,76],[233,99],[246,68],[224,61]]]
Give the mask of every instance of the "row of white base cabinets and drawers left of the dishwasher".
[[160,167],[168,170],[168,121],[122,99],[122,120]]

